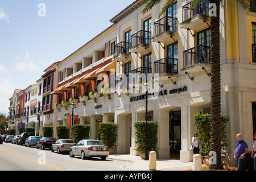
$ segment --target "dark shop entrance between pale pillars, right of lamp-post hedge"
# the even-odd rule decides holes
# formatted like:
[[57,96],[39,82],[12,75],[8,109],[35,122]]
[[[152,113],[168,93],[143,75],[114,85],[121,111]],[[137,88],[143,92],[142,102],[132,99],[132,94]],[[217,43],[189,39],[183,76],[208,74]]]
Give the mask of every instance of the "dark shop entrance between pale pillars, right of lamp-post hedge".
[[180,154],[181,150],[181,111],[169,112],[170,154]]

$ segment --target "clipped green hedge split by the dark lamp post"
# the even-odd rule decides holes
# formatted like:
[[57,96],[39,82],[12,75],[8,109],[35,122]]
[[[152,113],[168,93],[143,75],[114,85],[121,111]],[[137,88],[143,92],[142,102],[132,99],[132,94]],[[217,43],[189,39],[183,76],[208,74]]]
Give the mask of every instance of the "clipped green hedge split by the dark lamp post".
[[[138,144],[136,151],[144,153],[146,143],[146,121],[137,121],[134,123],[135,128],[135,144]],[[155,121],[147,122],[147,140],[148,151],[156,151],[156,144],[158,143],[158,123]]]

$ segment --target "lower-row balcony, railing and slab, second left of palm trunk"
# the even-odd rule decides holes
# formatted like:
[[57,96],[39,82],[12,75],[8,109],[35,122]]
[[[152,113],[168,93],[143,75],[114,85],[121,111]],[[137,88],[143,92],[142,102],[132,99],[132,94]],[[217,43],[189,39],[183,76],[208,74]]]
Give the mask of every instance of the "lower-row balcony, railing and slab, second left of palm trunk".
[[167,80],[168,77],[176,77],[177,74],[177,59],[165,57],[154,62],[154,78],[158,78],[159,81]]

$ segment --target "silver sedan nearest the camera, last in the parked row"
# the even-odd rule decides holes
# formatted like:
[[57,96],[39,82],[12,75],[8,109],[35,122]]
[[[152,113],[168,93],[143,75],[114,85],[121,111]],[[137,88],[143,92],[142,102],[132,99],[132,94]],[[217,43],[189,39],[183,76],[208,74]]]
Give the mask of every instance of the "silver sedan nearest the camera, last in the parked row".
[[100,140],[80,140],[71,147],[69,156],[81,156],[82,159],[99,157],[105,160],[109,156],[109,147],[105,146]]

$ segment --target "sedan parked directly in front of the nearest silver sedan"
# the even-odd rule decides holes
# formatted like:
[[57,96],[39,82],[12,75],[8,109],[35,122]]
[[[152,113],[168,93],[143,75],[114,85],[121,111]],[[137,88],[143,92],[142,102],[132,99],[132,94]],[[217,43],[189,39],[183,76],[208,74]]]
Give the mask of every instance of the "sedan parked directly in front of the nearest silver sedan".
[[58,154],[61,152],[69,152],[70,148],[73,147],[75,142],[71,139],[59,139],[52,144],[52,152],[57,151]]

